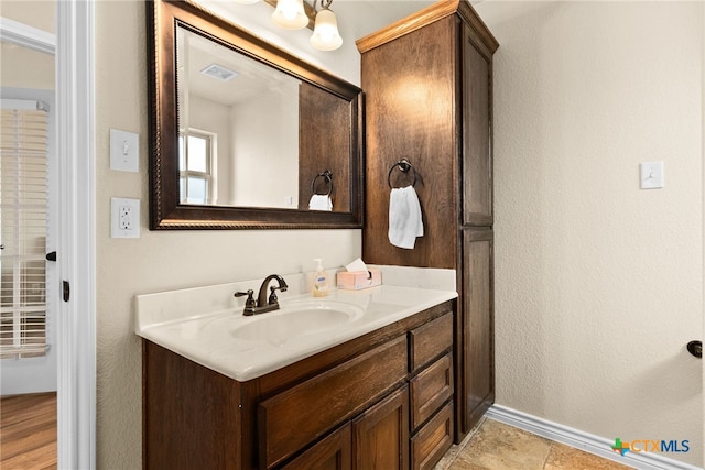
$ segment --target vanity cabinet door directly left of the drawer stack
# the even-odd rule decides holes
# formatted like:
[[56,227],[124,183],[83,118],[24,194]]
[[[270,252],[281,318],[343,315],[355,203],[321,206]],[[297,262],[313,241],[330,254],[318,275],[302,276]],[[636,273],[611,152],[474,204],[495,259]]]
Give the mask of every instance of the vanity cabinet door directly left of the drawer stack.
[[355,470],[409,468],[409,386],[393,392],[352,422]]

